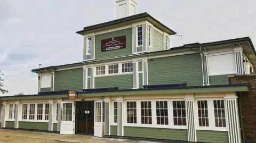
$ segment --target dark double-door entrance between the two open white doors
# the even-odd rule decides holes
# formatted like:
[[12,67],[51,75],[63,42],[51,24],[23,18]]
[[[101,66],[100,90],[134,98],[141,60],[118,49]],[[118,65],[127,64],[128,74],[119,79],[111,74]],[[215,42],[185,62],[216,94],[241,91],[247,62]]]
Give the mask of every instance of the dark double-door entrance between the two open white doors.
[[76,102],[76,133],[94,134],[94,101]]

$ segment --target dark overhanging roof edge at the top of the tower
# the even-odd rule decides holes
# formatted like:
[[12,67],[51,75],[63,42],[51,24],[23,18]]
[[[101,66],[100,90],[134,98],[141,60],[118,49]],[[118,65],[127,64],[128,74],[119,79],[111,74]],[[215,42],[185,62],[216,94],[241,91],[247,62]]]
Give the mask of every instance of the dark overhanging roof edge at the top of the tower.
[[85,31],[89,31],[89,30],[93,30],[93,29],[97,29],[97,28],[101,28],[101,27],[106,27],[106,26],[110,26],[112,24],[122,23],[122,22],[130,21],[130,20],[145,18],[147,16],[149,16],[149,18],[151,18],[154,21],[156,21],[159,24],[161,24],[166,29],[172,31],[174,34],[176,34],[176,32],[174,32],[170,28],[166,27],[163,23],[161,23],[158,20],[156,20],[155,18],[153,18],[153,16],[149,15],[147,12],[140,13],[140,14],[135,14],[135,15],[128,16],[128,17],[125,17],[125,18],[122,18],[122,19],[112,20],[112,21],[108,21],[108,22],[104,22],[104,23],[100,23],[100,24],[95,24],[95,25],[89,26],[89,27],[84,27],[83,30],[77,31],[76,33],[81,33],[81,32],[85,32]]

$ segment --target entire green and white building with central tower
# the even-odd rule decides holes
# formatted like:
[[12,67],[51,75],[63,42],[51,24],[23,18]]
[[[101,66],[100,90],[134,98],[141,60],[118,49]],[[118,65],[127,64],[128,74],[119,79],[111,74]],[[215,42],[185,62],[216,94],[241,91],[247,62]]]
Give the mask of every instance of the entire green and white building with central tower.
[[31,70],[38,94],[1,97],[2,128],[242,142],[237,101],[250,85],[228,76],[253,73],[251,39],[171,48],[175,32],[136,7],[137,0],[116,0],[116,20],[77,31],[81,62]]

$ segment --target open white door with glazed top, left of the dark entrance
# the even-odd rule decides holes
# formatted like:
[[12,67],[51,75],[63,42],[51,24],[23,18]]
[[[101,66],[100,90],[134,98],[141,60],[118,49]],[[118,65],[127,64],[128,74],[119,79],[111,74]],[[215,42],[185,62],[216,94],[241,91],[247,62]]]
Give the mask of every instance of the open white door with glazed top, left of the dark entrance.
[[61,103],[60,134],[74,134],[74,102]]

